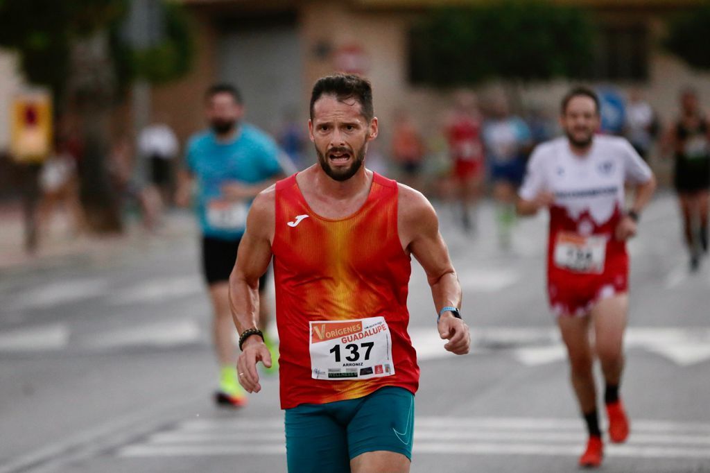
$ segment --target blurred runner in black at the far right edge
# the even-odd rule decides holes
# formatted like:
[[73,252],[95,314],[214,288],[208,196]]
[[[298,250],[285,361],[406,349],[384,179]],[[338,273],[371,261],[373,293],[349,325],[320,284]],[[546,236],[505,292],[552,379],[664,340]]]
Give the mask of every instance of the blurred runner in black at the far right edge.
[[680,95],[680,116],[667,132],[664,151],[674,155],[673,183],[680,201],[690,269],[697,271],[701,254],[708,252],[710,123],[693,89],[685,89]]

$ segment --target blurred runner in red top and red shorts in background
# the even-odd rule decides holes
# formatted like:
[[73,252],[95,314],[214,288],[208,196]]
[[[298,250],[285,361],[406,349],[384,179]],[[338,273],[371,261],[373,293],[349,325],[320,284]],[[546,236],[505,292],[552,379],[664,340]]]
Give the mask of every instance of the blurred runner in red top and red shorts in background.
[[475,229],[469,207],[476,210],[484,178],[484,146],[481,142],[481,114],[473,92],[461,90],[454,97],[454,109],[444,125],[449,156],[454,163],[453,181],[461,204],[461,223],[466,232]]

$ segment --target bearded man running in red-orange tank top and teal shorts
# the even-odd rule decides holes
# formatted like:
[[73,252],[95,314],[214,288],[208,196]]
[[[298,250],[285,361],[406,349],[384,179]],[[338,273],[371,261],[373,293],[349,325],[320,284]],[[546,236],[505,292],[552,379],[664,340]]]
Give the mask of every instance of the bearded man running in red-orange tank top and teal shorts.
[[411,256],[427,273],[444,348],[469,352],[461,287],[426,198],[363,166],[378,134],[369,82],[318,80],[318,163],[254,200],[230,278],[237,369],[261,391],[258,279],[273,257],[290,472],[408,472],[419,367],[407,327]]

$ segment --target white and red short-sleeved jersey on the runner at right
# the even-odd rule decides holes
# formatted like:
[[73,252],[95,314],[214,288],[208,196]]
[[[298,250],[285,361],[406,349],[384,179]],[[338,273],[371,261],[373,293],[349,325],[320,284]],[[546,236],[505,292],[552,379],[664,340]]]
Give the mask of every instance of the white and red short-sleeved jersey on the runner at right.
[[[567,138],[535,148],[519,195],[533,200],[552,192],[548,276],[606,273],[626,245],[614,239],[623,215],[624,184],[648,182],[652,173],[625,138],[594,136],[585,156],[572,153]],[[608,264],[611,263],[611,264]],[[571,274],[572,273],[572,274]],[[560,274],[562,276],[562,274]]]

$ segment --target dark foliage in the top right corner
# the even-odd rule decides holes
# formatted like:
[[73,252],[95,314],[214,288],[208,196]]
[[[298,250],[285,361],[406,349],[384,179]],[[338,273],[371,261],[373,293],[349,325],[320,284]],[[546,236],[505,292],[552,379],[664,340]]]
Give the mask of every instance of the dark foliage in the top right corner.
[[710,3],[679,13],[668,24],[665,48],[697,69],[710,69]]

